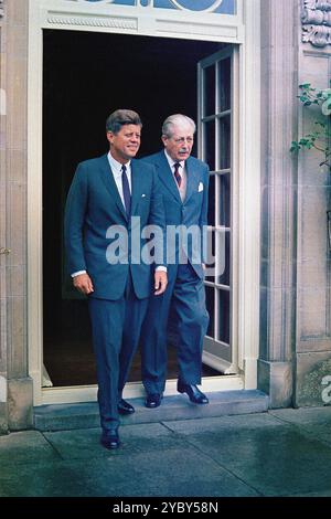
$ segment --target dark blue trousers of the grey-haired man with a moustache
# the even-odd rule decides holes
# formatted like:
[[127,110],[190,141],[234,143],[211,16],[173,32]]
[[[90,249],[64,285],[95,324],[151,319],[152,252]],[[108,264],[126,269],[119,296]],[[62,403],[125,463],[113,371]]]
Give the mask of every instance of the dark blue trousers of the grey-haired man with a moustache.
[[141,372],[148,393],[164,391],[170,308],[177,336],[179,380],[186,384],[200,384],[202,347],[209,314],[203,280],[189,263],[169,265],[166,293],[149,299],[141,331]]

